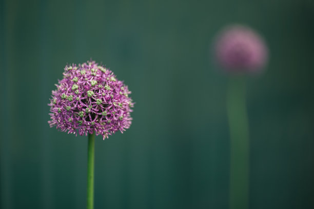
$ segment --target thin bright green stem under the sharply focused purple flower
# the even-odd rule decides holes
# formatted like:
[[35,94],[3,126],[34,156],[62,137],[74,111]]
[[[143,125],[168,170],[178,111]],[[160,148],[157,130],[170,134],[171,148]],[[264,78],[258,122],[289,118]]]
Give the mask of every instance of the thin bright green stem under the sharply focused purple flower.
[[95,133],[88,134],[87,160],[87,209],[94,208],[94,150]]

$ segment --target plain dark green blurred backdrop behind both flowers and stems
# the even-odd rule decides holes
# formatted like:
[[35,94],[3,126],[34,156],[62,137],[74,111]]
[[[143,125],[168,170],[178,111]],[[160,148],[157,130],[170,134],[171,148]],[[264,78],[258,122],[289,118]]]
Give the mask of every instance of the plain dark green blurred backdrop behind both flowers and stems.
[[92,58],[136,102],[96,137],[95,208],[228,208],[228,77],[215,34],[242,23],[270,60],[247,81],[250,208],[314,207],[314,3],[0,1],[1,208],[85,208],[87,137],[50,129],[64,66]]

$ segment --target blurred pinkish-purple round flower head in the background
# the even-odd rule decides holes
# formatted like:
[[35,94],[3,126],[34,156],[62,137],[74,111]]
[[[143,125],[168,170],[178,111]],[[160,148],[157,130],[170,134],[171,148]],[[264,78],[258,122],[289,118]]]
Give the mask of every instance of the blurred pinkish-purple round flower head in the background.
[[241,25],[225,28],[218,36],[215,54],[227,72],[259,72],[267,61],[262,37]]

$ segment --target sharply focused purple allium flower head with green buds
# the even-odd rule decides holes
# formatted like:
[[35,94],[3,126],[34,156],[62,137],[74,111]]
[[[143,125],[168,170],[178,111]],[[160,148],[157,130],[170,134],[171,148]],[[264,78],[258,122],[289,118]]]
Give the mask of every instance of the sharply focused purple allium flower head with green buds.
[[50,99],[50,127],[83,136],[93,132],[103,139],[130,127],[131,93],[104,66],[90,61],[65,67],[63,79]]

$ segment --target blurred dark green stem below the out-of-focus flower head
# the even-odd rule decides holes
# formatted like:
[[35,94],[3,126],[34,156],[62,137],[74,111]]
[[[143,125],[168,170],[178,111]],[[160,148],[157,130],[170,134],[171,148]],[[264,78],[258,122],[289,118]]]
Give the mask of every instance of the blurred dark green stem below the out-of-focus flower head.
[[230,77],[227,93],[231,209],[247,209],[249,203],[249,132],[245,81],[245,76]]

